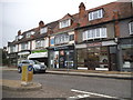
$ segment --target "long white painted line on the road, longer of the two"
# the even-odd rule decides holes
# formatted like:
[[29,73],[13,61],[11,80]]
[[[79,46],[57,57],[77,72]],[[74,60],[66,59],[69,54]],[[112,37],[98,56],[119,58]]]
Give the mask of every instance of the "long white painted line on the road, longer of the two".
[[86,93],[86,94],[92,94],[92,96],[98,96],[98,97],[103,97],[103,98],[114,98],[114,99],[119,99],[117,97],[111,97],[111,96],[106,96],[106,94],[86,92],[86,91],[81,91],[81,90],[75,90],[75,89],[71,89],[71,91],[73,91],[73,92],[80,92],[80,93]]

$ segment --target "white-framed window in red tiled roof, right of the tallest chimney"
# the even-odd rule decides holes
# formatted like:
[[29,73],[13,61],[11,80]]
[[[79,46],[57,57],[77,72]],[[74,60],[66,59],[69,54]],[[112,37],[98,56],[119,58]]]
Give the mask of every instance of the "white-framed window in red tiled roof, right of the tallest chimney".
[[95,20],[95,19],[101,19],[103,18],[103,9],[93,11],[89,13],[89,20]]

